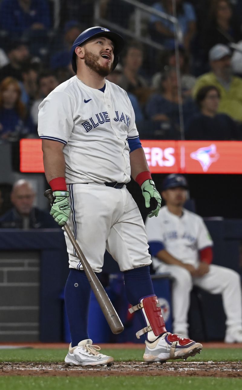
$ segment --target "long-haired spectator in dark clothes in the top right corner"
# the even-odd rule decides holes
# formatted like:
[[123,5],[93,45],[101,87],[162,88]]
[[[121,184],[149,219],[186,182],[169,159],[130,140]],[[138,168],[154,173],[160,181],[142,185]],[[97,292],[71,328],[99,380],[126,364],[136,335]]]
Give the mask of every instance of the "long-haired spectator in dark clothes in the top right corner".
[[208,23],[201,42],[205,53],[217,43],[229,44],[242,39],[240,21],[233,14],[229,0],[211,0],[208,10]]

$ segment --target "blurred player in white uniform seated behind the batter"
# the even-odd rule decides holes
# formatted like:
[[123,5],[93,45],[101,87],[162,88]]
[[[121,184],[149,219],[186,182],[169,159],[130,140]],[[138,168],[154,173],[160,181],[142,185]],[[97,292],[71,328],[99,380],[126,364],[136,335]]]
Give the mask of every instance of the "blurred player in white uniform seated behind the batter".
[[147,220],[146,231],[157,273],[169,272],[173,282],[173,330],[188,337],[190,292],[196,285],[209,293],[222,294],[226,314],[225,342],[242,342],[240,276],[232,269],[211,264],[212,239],[202,218],[183,208],[188,184],[172,174],[163,182],[158,218]]

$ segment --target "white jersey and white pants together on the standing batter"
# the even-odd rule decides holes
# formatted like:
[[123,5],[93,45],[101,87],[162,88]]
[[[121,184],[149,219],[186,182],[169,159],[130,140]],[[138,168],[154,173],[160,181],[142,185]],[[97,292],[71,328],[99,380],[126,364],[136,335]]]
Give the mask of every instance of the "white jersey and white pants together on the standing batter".
[[[87,261],[102,271],[107,249],[127,271],[151,263],[144,222],[126,186],[104,183],[130,181],[128,139],[139,134],[126,92],[109,81],[105,85],[103,93],[77,76],[59,85],[39,105],[38,132],[42,139],[65,145],[68,225]],[[69,267],[82,269],[66,233],[65,239]]]

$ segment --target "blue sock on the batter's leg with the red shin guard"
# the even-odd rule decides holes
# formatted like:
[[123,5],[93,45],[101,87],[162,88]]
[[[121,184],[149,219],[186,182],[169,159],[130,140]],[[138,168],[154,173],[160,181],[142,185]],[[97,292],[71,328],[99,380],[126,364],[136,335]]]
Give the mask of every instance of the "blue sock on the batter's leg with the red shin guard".
[[[130,269],[124,272],[125,291],[127,299],[132,306],[139,303],[140,298],[154,295],[154,288],[149,273],[149,266]],[[139,316],[142,328],[146,326],[142,310],[135,312]]]

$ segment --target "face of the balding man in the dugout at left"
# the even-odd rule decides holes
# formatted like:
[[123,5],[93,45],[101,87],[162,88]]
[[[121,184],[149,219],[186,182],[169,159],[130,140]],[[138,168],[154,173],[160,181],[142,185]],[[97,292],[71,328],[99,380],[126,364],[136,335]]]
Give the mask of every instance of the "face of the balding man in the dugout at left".
[[35,194],[27,185],[16,187],[11,194],[11,202],[21,215],[29,215],[32,207]]

